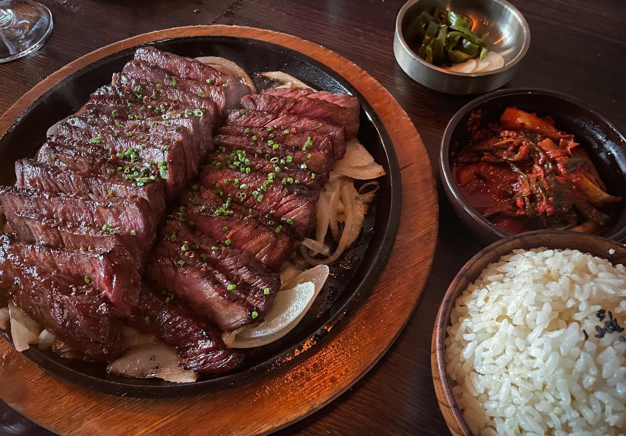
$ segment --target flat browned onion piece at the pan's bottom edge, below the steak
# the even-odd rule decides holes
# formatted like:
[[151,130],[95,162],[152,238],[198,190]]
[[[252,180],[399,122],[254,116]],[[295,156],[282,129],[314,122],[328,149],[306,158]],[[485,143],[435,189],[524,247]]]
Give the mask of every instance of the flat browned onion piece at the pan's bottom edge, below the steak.
[[153,343],[140,345],[112,361],[106,370],[126,377],[158,377],[174,383],[190,383],[198,376],[193,371],[180,368],[182,359],[173,346]]

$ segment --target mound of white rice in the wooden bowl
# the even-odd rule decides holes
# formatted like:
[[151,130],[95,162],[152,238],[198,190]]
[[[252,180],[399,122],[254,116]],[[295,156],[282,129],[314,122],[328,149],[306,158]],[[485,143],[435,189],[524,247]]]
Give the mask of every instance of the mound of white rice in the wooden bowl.
[[[624,436],[626,268],[577,250],[516,250],[457,299],[446,338],[454,396],[475,435]],[[585,340],[582,330],[588,333]]]

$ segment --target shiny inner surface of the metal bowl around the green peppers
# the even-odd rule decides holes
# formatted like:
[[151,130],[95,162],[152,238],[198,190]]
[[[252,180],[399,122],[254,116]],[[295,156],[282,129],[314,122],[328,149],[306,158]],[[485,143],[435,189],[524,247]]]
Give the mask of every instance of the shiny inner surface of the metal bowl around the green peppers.
[[422,11],[432,13],[436,7],[469,16],[474,21],[472,31],[475,33],[489,32],[486,42],[490,49],[501,54],[505,65],[523,54],[528,31],[525,20],[511,4],[500,0],[416,0],[401,18],[401,34],[415,58],[421,60],[416,53],[421,41],[413,23]]

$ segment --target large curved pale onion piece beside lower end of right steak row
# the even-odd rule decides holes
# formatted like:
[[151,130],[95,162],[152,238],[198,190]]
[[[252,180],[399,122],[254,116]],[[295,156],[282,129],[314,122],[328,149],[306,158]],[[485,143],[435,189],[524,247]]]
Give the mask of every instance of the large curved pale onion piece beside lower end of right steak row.
[[326,265],[302,272],[287,285],[292,288],[276,294],[274,307],[263,323],[223,333],[222,340],[231,348],[252,348],[267,345],[287,335],[309,311],[329,272]]

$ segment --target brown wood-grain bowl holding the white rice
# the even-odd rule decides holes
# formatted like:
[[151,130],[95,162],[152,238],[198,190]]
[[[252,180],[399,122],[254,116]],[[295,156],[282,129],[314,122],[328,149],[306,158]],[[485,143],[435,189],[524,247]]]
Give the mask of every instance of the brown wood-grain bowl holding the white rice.
[[[567,231],[533,231],[496,241],[478,252],[461,268],[450,284],[446,295],[441,301],[439,312],[433,331],[433,378],[435,390],[441,410],[450,430],[454,435],[473,436],[468,425],[464,422],[463,412],[458,407],[452,393],[453,380],[446,371],[446,329],[451,325],[451,314],[456,299],[467,289],[470,283],[478,279],[483,269],[490,263],[497,262],[501,256],[510,254],[515,249],[533,249],[547,247],[548,249],[577,249],[590,253],[593,256],[608,259],[615,264],[626,264],[626,247],[618,242],[600,236]],[[613,254],[609,250],[613,249]]]

